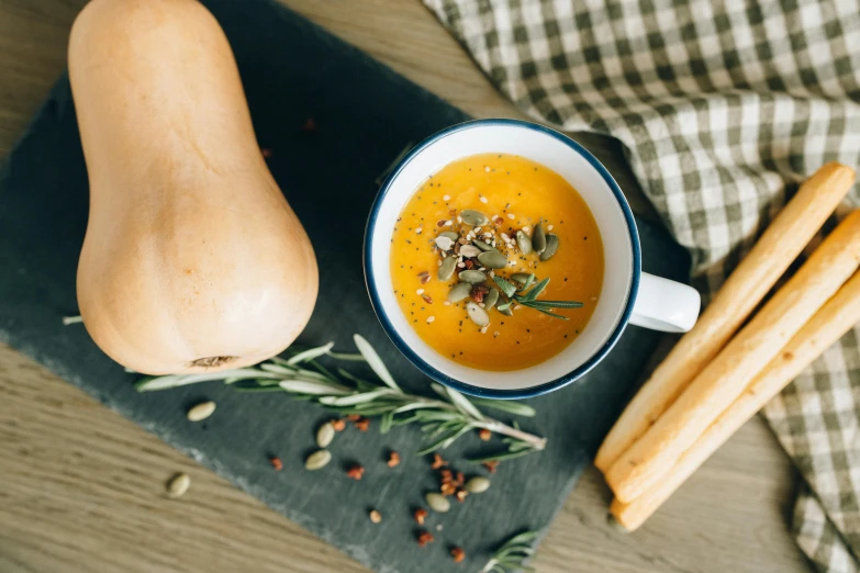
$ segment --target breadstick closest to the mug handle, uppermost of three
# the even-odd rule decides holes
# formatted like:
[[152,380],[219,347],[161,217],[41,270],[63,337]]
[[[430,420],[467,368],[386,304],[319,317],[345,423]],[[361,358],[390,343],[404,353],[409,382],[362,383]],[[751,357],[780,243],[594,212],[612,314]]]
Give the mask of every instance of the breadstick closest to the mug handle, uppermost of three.
[[768,226],[726,280],[696,325],[675,345],[627,405],[594,464],[606,472],[674,402],[801,254],[855,182],[855,171],[830,162],[815,172]]

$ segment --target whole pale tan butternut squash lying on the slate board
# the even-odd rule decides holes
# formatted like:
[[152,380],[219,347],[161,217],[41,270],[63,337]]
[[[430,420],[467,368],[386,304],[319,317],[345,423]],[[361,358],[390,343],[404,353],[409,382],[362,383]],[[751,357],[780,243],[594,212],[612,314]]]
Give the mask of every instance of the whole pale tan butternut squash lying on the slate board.
[[197,0],[93,0],[68,54],[90,182],[77,292],[92,339],[146,374],[283,351],[313,312],[316,259],[214,16]]

